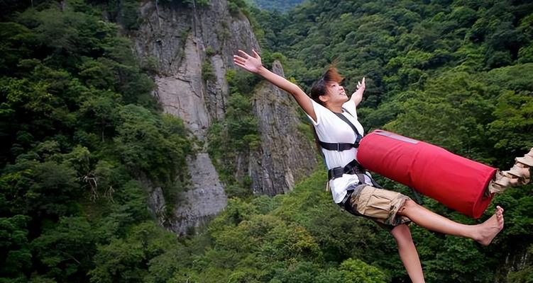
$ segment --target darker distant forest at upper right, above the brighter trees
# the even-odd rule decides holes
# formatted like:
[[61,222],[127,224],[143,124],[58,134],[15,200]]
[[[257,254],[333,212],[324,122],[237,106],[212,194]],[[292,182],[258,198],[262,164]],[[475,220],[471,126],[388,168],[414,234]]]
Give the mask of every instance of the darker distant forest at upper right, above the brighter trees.
[[287,15],[254,16],[268,49],[291,58],[287,76],[308,88],[327,64],[338,61],[348,89],[362,76],[372,80],[363,106],[375,108],[397,91],[420,88],[441,67],[492,69],[515,64],[519,53],[528,62],[529,11],[512,2],[324,0],[303,3]]

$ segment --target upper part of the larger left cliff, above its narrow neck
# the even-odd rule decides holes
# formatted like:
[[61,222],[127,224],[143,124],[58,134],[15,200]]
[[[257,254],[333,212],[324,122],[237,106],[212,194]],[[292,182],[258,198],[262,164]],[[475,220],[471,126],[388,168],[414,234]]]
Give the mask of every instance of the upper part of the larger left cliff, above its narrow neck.
[[141,6],[135,49],[142,64],[155,64],[163,110],[203,139],[211,121],[224,117],[233,54],[258,49],[258,43],[246,17],[231,16],[226,0],[197,8],[177,2]]

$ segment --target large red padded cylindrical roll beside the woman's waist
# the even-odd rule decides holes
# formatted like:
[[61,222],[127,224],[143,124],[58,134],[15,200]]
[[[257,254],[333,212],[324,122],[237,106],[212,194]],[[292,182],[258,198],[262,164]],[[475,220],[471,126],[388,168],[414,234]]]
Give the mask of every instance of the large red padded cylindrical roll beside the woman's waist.
[[493,198],[483,194],[496,168],[392,132],[378,129],[363,137],[357,160],[369,171],[474,218],[483,214]]

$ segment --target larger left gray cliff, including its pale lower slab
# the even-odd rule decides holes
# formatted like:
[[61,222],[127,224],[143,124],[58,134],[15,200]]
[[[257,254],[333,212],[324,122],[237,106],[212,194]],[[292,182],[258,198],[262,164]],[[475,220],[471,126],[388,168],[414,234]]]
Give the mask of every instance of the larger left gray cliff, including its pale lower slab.
[[[221,212],[227,204],[224,187],[209,156],[204,153],[205,131],[224,117],[228,98],[226,69],[233,67],[238,48],[258,49],[248,19],[231,16],[226,0],[191,7],[180,1],[156,4],[144,1],[142,23],[135,35],[135,51],[141,64],[151,64],[163,111],[180,117],[199,141],[198,153],[190,156],[192,188],[187,190],[165,226],[186,233]],[[165,200],[155,188],[150,207],[161,215]],[[163,222],[163,221],[160,221]]]

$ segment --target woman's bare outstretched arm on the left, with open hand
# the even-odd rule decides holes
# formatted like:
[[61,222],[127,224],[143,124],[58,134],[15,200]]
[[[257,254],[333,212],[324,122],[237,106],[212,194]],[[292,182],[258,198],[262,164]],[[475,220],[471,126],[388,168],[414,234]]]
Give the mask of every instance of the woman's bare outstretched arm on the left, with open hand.
[[273,83],[275,86],[278,86],[278,88],[281,88],[284,91],[287,91],[287,93],[292,94],[292,96],[295,97],[296,102],[300,105],[300,107],[309,115],[309,117],[312,117],[313,120],[317,121],[317,115],[314,112],[313,104],[311,102],[311,98],[307,96],[304,91],[302,91],[302,88],[297,86],[295,83],[291,83],[290,81],[287,81],[282,76],[278,76],[277,74],[274,74],[272,71],[266,69],[263,67],[263,64],[261,64],[261,57],[255,50],[253,51],[253,56],[247,54],[243,50],[238,50],[238,55],[233,56],[233,62],[243,69],[246,69],[246,71],[250,71],[253,74],[258,74],[259,76],[263,76],[267,81],[270,81],[270,83]]

